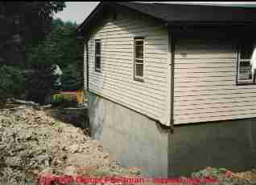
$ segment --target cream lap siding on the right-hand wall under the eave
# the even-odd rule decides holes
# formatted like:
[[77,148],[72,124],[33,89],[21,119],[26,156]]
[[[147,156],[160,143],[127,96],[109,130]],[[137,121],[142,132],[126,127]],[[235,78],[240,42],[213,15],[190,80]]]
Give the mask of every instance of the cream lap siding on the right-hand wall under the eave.
[[256,86],[237,86],[237,46],[180,39],[175,45],[175,124],[256,116]]

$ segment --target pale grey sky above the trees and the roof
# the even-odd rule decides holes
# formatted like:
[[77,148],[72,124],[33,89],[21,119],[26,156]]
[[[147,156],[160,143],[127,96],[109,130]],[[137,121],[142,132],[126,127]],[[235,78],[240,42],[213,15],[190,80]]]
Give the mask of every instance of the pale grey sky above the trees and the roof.
[[[66,2],[66,8],[54,18],[61,18],[63,21],[76,22],[81,24],[87,16],[93,11],[99,2]],[[179,3],[179,4],[203,4],[203,5],[225,5],[225,6],[256,6],[256,2],[162,2],[162,3]]]

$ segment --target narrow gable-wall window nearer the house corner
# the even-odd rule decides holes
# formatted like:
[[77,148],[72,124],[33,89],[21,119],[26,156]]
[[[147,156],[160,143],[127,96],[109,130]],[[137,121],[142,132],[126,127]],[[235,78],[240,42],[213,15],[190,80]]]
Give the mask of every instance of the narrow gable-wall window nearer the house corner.
[[134,38],[134,79],[142,81],[144,76],[144,38]]

